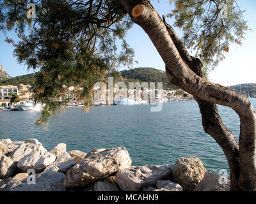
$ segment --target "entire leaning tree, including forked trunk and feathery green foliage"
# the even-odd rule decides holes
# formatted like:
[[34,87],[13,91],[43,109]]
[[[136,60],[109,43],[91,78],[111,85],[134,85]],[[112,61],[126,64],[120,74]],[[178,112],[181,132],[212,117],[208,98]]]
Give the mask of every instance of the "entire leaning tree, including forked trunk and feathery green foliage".
[[[134,52],[125,41],[125,33],[134,22],[157,48],[170,82],[196,99],[205,132],[227,157],[231,189],[256,190],[253,106],[241,94],[203,76],[207,68],[224,59],[230,43],[241,44],[248,29],[236,1],[173,1],[175,9],[168,16],[175,17],[174,25],[184,31],[182,40],[147,0],[36,1],[35,19],[24,15],[28,3],[2,1],[0,27],[3,31],[15,29],[19,35],[18,43],[6,38],[15,45],[18,61],[40,70],[33,86],[34,100],[46,105],[38,124],[61,105],[58,98],[65,91],[63,85],[83,87],[80,98],[90,106],[95,82],[102,80],[106,71],[115,71],[118,64],[132,63]],[[120,52],[118,39],[122,41]],[[194,57],[187,48],[195,49]],[[223,124],[216,104],[228,106],[239,115],[239,142]]]

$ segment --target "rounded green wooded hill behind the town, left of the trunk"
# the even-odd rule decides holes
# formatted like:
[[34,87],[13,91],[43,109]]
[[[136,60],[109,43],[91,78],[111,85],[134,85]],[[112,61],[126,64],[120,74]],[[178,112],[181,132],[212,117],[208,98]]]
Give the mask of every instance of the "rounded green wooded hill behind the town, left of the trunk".
[[[179,89],[179,87],[171,84],[166,77],[165,71],[155,68],[134,68],[121,71],[123,78],[129,81],[138,80],[140,82],[163,82],[163,89]],[[157,85],[157,84],[156,84]]]

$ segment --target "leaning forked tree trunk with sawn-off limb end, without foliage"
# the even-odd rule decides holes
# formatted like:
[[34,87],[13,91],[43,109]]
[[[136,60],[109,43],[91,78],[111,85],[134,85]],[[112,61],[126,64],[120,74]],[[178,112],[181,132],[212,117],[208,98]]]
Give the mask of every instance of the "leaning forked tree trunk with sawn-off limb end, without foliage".
[[[202,78],[198,65],[193,64],[193,60],[189,61],[184,47],[179,48],[177,43],[175,45],[172,32],[148,1],[120,0],[120,3],[157,48],[166,64],[169,80],[195,97],[200,106],[205,131],[225,152],[232,189],[256,191],[256,115],[250,101],[231,89]],[[239,115],[239,148],[234,135],[224,126],[215,104],[228,106]]]

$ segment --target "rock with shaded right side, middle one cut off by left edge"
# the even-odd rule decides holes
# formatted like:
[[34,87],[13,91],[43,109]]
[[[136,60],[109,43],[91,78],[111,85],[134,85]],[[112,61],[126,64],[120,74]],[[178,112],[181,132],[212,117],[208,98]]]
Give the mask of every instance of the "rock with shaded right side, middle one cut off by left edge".
[[6,156],[1,156],[0,159],[0,179],[4,177],[12,177],[15,173],[17,166],[13,163],[12,159]]

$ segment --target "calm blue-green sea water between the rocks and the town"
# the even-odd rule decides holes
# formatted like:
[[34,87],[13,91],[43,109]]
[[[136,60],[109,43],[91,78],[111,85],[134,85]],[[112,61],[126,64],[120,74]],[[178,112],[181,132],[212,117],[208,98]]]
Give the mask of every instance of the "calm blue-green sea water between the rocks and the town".
[[[251,99],[256,106],[256,99]],[[199,157],[207,170],[228,169],[223,151],[202,128],[195,101],[163,103],[161,112],[150,105],[94,106],[66,108],[47,129],[35,125],[39,112],[0,112],[0,139],[38,139],[46,149],[66,143],[67,150],[125,147],[132,165],[174,164],[179,157]],[[230,108],[219,106],[223,122],[239,135],[239,117]]]

